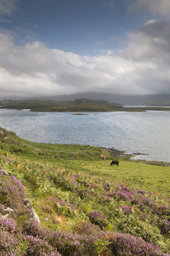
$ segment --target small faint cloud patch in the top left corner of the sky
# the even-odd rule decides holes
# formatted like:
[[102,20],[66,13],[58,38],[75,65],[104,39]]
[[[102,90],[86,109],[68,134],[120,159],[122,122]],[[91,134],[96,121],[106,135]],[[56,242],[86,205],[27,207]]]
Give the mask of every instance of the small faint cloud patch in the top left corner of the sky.
[[0,15],[10,16],[16,11],[18,1],[20,0],[0,0]]

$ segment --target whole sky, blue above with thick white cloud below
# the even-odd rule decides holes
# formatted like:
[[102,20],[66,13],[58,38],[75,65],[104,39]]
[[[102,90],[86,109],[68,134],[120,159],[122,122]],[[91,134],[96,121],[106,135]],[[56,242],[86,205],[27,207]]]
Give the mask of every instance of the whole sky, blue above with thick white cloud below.
[[0,0],[0,97],[170,93],[169,0]]

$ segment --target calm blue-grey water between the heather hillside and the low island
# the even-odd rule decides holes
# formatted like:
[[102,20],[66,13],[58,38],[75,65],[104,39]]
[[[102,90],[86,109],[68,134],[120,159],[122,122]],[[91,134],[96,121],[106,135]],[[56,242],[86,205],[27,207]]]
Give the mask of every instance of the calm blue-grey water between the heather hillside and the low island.
[[72,113],[0,110],[0,127],[32,142],[89,144],[170,162],[170,112]]

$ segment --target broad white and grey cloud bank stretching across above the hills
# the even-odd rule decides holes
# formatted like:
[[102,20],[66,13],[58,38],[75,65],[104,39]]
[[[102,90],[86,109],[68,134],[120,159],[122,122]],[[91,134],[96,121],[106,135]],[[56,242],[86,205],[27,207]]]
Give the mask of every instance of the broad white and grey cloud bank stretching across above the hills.
[[169,28],[169,22],[147,21],[130,33],[125,49],[93,57],[50,49],[38,41],[16,46],[12,36],[0,33],[0,93],[170,93]]

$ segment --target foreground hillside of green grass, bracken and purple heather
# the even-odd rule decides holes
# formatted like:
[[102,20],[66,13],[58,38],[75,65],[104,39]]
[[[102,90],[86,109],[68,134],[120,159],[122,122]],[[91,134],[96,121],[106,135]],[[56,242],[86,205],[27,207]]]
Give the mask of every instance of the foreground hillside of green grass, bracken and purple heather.
[[[106,155],[106,161],[101,159]],[[170,251],[170,166],[100,147],[38,144],[0,128],[1,255],[164,256]],[[41,225],[29,223],[31,201]]]

